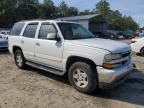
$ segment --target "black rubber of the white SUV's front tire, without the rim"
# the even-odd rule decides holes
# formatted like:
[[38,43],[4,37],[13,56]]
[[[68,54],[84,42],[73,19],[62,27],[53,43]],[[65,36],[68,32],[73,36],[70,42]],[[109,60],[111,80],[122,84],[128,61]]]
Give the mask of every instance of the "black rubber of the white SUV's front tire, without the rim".
[[[73,72],[76,69],[84,70],[88,76],[88,85],[85,88],[78,87],[73,80]],[[91,65],[84,63],[84,62],[74,63],[68,71],[68,77],[69,77],[69,81],[70,81],[71,85],[75,89],[77,89],[78,91],[83,92],[83,93],[91,93],[98,86],[98,77],[97,77],[96,67],[92,67]]]

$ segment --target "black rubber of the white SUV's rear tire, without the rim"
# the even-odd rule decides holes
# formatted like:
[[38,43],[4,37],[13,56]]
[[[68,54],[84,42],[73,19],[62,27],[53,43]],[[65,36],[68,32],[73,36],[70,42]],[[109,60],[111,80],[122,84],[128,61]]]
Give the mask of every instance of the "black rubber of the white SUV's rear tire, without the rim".
[[[17,61],[16,61],[16,56],[17,56],[17,54],[20,54],[20,55],[21,55],[21,58],[22,58],[22,65],[21,65],[21,66],[19,66],[18,63],[17,63]],[[18,67],[19,69],[24,68],[24,66],[25,66],[25,58],[24,58],[23,53],[22,53],[21,50],[16,50],[16,51],[15,51],[14,58],[15,58],[15,64],[17,65],[17,67]]]

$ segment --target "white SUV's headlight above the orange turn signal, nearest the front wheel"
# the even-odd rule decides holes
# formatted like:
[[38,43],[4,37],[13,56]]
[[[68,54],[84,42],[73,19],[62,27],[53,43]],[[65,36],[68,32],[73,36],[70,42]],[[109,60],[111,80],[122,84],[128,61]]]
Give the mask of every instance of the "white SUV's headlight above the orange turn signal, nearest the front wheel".
[[117,60],[121,58],[121,54],[107,54],[104,57],[104,63],[111,62],[112,60]]

